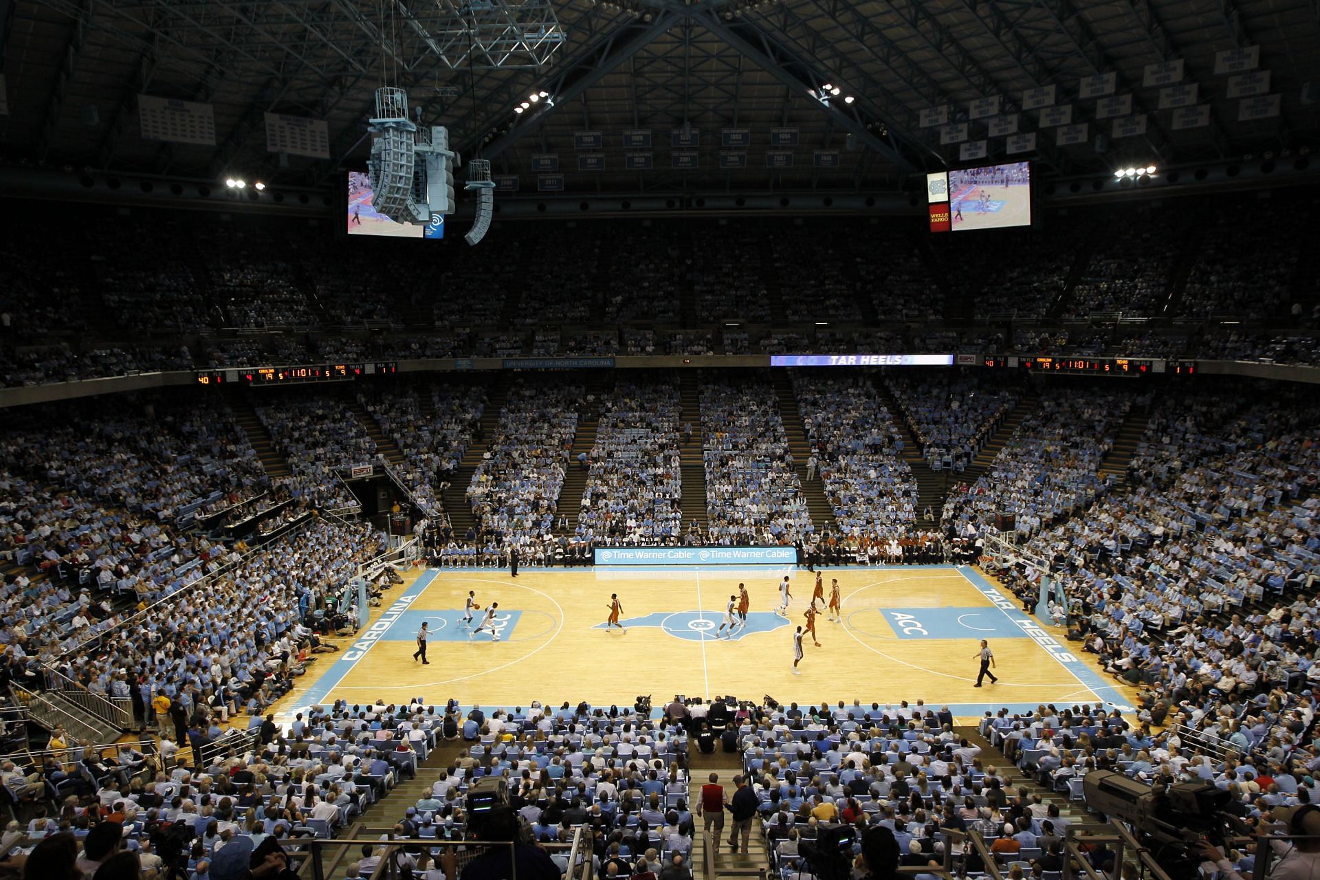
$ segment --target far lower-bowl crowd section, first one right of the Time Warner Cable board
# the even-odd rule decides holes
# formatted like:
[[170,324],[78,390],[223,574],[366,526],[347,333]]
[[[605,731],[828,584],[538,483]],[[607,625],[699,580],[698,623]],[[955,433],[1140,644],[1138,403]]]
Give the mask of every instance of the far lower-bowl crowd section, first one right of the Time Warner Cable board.
[[867,541],[907,537],[917,513],[916,480],[871,377],[796,373],[793,391],[841,533]]

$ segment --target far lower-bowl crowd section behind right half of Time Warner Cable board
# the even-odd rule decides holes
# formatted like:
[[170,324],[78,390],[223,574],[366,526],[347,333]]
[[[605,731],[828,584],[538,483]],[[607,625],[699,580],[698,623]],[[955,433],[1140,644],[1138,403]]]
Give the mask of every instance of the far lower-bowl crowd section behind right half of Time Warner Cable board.
[[708,542],[792,544],[813,530],[772,385],[705,381],[701,435]]

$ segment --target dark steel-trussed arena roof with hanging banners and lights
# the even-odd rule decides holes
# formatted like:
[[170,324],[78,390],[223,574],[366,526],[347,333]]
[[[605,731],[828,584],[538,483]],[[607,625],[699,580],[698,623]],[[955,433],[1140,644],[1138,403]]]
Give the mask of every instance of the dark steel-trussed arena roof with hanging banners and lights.
[[[7,160],[191,179],[329,189],[383,84],[465,158],[535,187],[556,156],[574,193],[1067,179],[1320,128],[1316,0],[0,0],[0,28]],[[210,127],[144,137],[143,95]],[[268,113],[325,123],[314,154]]]

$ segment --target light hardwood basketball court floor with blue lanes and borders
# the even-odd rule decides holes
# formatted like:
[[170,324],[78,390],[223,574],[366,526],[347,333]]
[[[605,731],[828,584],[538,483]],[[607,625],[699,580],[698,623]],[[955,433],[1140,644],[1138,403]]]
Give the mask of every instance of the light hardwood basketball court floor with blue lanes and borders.
[[[788,573],[788,619],[774,613]],[[792,673],[792,632],[803,621],[814,575],[777,567],[721,569],[474,569],[425,570],[387,594],[372,623],[342,650],[322,654],[280,714],[337,698],[428,703],[455,698],[467,706],[527,706],[564,701],[631,705],[639,694],[663,703],[675,694],[733,694],[780,702],[853,699],[863,705],[949,705],[964,719],[985,708],[1104,701],[1130,705],[1089,656],[1074,653],[1063,631],[1023,615],[1007,591],[974,569],[908,566],[833,569],[843,599],[842,623],[821,613],[821,646],[804,640]],[[746,582],[751,613],[731,639],[719,639],[725,604]],[[484,607],[499,603],[502,639],[469,637],[462,620],[467,591]],[[606,631],[610,594],[623,603],[627,632]],[[430,665],[412,658],[422,620],[432,631]],[[999,682],[973,687],[979,639],[987,639]]]

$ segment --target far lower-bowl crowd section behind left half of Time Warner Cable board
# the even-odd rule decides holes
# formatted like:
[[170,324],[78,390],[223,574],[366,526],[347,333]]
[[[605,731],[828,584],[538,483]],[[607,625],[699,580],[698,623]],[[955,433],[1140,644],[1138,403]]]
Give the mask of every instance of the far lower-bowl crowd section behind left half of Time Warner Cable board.
[[672,544],[682,529],[678,410],[673,380],[619,381],[601,397],[601,418],[577,517],[578,542]]

